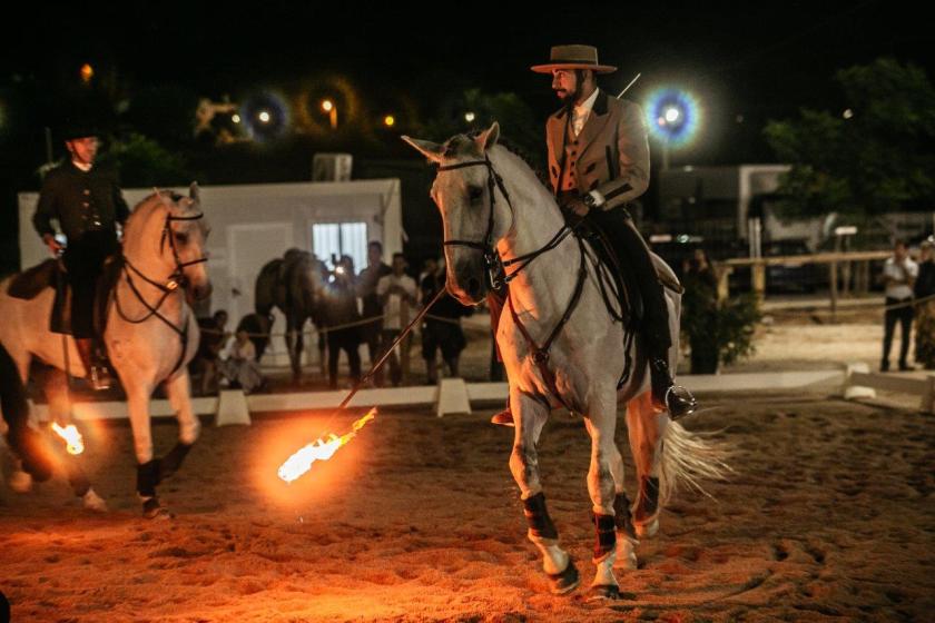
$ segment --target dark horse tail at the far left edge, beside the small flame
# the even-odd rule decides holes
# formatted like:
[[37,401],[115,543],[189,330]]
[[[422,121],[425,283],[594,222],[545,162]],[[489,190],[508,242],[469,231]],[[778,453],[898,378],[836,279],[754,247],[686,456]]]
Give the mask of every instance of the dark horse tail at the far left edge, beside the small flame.
[[0,344],[0,412],[7,423],[7,443],[22,461],[22,468],[36,481],[52,475],[51,453],[39,433],[29,425],[29,402],[17,364]]

